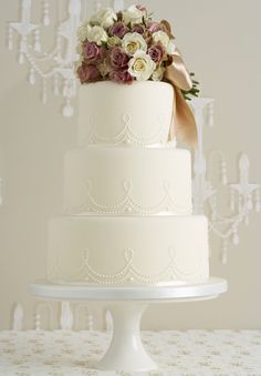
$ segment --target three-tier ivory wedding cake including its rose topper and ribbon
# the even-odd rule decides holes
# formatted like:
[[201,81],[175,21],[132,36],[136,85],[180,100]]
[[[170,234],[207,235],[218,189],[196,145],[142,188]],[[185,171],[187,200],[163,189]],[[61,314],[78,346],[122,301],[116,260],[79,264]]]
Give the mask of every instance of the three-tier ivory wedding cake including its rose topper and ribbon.
[[80,29],[77,148],[64,160],[64,215],[50,221],[48,280],[167,285],[209,277],[208,222],[192,215],[195,87],[167,21],[102,9]]

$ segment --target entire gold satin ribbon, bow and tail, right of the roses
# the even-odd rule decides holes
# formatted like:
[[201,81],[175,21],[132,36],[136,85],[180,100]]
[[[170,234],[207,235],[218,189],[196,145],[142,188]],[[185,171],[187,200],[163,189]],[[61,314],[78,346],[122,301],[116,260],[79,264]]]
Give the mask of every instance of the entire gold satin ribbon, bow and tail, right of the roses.
[[177,133],[182,141],[196,149],[198,143],[196,121],[181,93],[181,90],[189,91],[192,88],[192,81],[178,49],[171,58],[173,63],[166,68],[164,75],[175,91],[169,141]]

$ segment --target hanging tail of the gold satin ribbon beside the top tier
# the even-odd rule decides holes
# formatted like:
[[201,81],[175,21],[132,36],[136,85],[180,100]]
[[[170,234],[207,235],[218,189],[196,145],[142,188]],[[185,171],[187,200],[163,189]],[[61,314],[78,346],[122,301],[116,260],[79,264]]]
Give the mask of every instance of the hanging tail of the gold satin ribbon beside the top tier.
[[175,90],[174,95],[174,112],[173,123],[169,131],[169,140],[171,141],[177,134],[184,142],[189,144],[191,148],[198,148],[198,132],[197,124],[192,111],[188,103],[182,96],[180,89],[173,85]]

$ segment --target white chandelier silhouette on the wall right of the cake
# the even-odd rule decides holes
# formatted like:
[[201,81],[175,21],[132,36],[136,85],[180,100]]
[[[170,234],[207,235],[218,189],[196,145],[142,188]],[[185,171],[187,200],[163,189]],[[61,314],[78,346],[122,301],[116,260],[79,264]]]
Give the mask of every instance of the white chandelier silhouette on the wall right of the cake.
[[[203,125],[206,123],[205,112],[207,112],[207,123],[213,125],[213,100],[210,98],[196,98],[191,100],[191,108],[195,113],[198,128],[198,150],[195,152],[194,161],[194,212],[195,214],[207,214],[209,217],[209,232],[221,238],[222,246],[220,258],[227,263],[229,246],[239,245],[239,227],[241,224],[249,224],[249,214],[253,210],[260,213],[260,184],[249,181],[250,162],[247,154],[241,154],[239,159],[239,182],[228,183],[227,164],[221,151],[212,151],[209,156],[209,165],[203,154]],[[213,186],[207,173],[212,170],[212,160],[220,161],[221,184],[230,195],[230,213],[220,213],[221,205],[217,204],[219,195],[218,187]],[[211,175],[211,174],[209,174]]]

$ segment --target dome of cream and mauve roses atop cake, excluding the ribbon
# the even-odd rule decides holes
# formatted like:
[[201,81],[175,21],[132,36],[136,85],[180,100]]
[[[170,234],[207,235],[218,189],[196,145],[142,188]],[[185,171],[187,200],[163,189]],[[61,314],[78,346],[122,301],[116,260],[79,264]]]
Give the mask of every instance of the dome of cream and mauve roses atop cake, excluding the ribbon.
[[[80,27],[79,40],[81,83],[161,81],[176,50],[169,23],[154,22],[142,6],[117,13],[101,9]],[[197,93],[196,81],[192,91]]]

